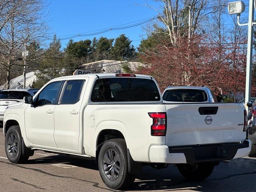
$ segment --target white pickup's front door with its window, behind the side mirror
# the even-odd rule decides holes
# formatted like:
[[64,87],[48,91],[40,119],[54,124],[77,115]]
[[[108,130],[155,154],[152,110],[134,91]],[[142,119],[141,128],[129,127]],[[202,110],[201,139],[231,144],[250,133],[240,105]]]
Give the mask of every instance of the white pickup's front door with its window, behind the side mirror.
[[57,147],[54,141],[54,109],[61,82],[48,84],[36,96],[35,106],[25,110],[25,129],[28,140],[36,146]]

